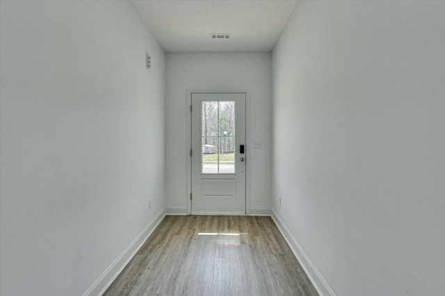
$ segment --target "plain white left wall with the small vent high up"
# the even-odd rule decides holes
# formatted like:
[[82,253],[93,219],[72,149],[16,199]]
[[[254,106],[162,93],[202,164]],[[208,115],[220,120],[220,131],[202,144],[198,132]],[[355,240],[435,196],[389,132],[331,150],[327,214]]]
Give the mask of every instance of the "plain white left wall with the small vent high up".
[[0,10],[0,294],[81,295],[164,207],[165,56],[128,1]]

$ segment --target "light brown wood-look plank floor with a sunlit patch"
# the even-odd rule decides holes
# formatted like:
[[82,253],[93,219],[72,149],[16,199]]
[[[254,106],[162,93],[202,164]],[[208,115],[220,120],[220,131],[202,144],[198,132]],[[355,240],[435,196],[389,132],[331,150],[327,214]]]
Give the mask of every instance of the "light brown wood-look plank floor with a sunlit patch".
[[104,295],[318,294],[270,217],[166,216]]

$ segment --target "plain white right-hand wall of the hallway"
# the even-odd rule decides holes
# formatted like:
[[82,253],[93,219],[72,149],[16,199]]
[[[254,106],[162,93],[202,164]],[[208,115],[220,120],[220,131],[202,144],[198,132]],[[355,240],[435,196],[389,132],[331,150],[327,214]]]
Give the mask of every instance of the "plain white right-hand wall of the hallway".
[[273,51],[273,209],[337,295],[444,295],[444,16],[300,1]]

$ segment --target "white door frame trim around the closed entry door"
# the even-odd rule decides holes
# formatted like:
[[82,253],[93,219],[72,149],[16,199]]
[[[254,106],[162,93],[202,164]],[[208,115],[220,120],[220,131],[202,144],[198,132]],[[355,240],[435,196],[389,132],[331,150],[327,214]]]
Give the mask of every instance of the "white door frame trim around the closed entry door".
[[187,175],[187,193],[186,193],[186,214],[191,215],[192,203],[190,195],[192,193],[192,157],[190,150],[192,147],[192,94],[245,94],[245,215],[250,215],[250,91],[246,89],[188,89],[186,97],[186,119],[187,119],[187,141],[186,141],[186,175]]

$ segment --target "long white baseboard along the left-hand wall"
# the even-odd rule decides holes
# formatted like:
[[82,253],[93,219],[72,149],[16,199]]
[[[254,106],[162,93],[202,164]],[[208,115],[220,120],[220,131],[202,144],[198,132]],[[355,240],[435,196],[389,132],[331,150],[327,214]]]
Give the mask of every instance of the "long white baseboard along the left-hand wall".
[[153,230],[161,223],[162,219],[165,217],[165,208],[162,208],[153,220],[151,220],[147,226],[143,229],[138,236],[130,243],[130,245],[122,252],[118,258],[111,263],[102,275],[83,293],[83,296],[97,296],[105,293],[106,289],[113,283],[113,281],[118,277],[120,272],[124,270],[125,266],[133,258],[133,256],[138,252],[140,247],[143,246],[147,238],[152,234]]

